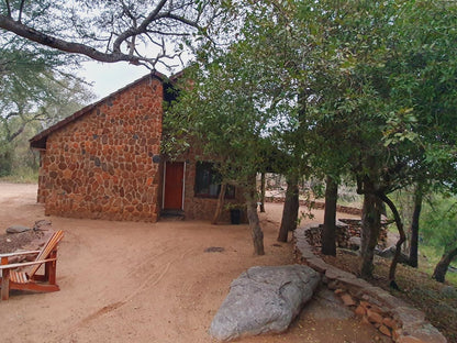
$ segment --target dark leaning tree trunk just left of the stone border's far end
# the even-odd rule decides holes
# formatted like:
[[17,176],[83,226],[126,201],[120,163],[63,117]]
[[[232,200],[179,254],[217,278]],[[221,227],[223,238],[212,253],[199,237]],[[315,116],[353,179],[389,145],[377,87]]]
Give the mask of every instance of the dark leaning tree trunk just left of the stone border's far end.
[[286,201],[282,208],[281,226],[278,235],[279,242],[287,242],[289,231],[297,229],[299,207],[299,178],[291,176],[287,179]]

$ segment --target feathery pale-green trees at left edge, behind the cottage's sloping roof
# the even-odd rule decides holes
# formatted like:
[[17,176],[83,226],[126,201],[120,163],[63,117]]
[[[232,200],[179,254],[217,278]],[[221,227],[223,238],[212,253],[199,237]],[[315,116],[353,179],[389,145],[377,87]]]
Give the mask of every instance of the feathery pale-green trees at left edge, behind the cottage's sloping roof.
[[21,135],[71,114],[92,96],[83,80],[69,74],[75,58],[12,35],[0,42],[0,174],[9,174],[14,150],[24,145],[16,141],[27,139]]

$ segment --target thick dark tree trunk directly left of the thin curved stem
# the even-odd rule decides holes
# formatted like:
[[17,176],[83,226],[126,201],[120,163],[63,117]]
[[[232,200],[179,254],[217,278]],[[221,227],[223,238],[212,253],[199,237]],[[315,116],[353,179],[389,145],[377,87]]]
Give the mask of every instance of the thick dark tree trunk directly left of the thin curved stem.
[[372,277],[372,259],[381,230],[382,201],[374,193],[365,193],[361,213],[360,276]]

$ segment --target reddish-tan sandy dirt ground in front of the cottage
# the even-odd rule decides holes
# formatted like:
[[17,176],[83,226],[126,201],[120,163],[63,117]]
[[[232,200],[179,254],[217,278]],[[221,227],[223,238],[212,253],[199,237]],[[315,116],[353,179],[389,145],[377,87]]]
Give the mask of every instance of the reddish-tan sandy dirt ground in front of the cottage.
[[[259,257],[253,256],[247,225],[45,218],[35,197],[34,185],[0,184],[0,230],[40,219],[63,229],[62,290],[13,292],[0,302],[1,342],[211,342],[208,328],[234,278],[254,265],[293,263],[291,244],[276,242],[280,204],[261,215],[266,255]],[[322,220],[322,211],[314,220]],[[211,246],[224,251],[205,253]],[[379,339],[350,316],[321,292],[288,333],[242,342]]]

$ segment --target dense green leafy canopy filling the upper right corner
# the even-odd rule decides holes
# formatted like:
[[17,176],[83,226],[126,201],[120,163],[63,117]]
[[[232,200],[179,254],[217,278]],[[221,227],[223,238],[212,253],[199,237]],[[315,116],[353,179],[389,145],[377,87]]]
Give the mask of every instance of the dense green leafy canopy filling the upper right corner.
[[[306,118],[321,142],[314,164],[330,172],[349,168],[358,190],[372,198],[365,203],[366,222],[379,217],[379,211],[369,212],[380,209],[380,199],[395,213],[387,197],[395,189],[419,180],[454,182],[455,4],[281,4],[296,19],[292,25],[306,33],[303,46],[312,46],[303,70],[315,98]],[[366,276],[377,231],[368,224],[368,245],[363,237]]]

